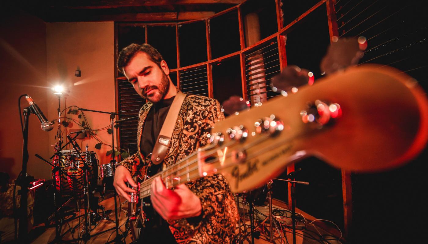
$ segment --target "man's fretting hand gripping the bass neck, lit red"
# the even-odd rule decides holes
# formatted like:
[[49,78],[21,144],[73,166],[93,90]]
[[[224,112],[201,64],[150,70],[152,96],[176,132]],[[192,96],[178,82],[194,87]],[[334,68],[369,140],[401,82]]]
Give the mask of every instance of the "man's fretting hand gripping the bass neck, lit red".
[[202,211],[201,200],[186,185],[177,185],[174,191],[166,189],[160,176],[153,179],[150,199],[165,220],[196,217]]

